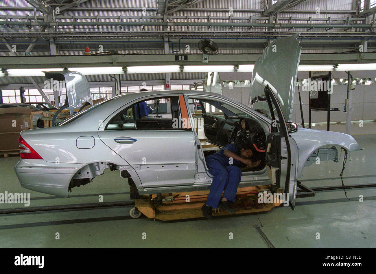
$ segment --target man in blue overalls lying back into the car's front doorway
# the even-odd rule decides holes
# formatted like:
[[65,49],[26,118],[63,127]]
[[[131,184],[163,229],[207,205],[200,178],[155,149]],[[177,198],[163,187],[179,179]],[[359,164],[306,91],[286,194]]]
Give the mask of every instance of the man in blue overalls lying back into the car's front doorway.
[[[214,155],[208,156],[206,166],[209,173],[214,176],[210,185],[210,193],[208,200],[202,206],[202,214],[205,218],[212,218],[212,208],[226,210],[231,214],[235,214],[235,209],[230,206],[230,202],[235,202],[238,185],[241,179],[241,163],[248,167],[257,167],[260,161],[249,160],[253,151],[250,146],[244,146],[239,149],[235,144],[228,144]],[[222,196],[222,192],[223,197]]]

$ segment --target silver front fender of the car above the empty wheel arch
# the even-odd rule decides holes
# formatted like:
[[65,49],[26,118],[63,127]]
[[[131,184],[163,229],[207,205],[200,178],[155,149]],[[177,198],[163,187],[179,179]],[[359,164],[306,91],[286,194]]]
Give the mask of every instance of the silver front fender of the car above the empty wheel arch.
[[303,167],[308,157],[318,148],[336,146],[348,152],[360,150],[359,144],[351,135],[340,132],[299,128],[297,132],[291,133],[291,137],[296,141],[299,150],[299,178],[302,177]]

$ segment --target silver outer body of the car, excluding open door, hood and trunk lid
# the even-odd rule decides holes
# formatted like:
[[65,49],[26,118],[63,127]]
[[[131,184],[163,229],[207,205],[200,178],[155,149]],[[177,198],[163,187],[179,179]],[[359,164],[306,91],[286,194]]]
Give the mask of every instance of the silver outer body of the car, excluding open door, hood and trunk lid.
[[[123,132],[104,129],[121,108],[164,95],[183,95],[186,99],[200,96],[224,102],[257,119],[266,135],[270,132],[270,119],[220,94],[165,90],[119,95],[93,106],[89,114],[65,125],[22,131],[21,137],[43,159],[18,161],[15,171],[21,185],[30,190],[68,197],[72,179],[92,179],[103,174],[103,170],[109,167],[107,164],[112,163],[120,172],[129,172],[140,194],[208,189],[212,176],[208,173],[202,149],[197,149],[200,143],[194,128],[191,131]],[[298,177],[309,156],[323,146],[342,147],[347,151],[360,149],[353,137],[337,132],[299,129],[291,136],[299,147]],[[115,142],[119,138],[137,142]],[[143,158],[146,158],[146,163],[143,163]],[[240,187],[265,184],[270,184],[266,168],[243,172]]]

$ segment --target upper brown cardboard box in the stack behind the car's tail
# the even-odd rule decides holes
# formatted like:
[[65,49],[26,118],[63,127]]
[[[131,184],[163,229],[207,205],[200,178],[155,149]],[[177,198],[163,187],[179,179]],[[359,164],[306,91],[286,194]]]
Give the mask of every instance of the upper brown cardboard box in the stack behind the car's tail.
[[0,108],[0,132],[21,132],[32,129],[31,113],[29,107]]

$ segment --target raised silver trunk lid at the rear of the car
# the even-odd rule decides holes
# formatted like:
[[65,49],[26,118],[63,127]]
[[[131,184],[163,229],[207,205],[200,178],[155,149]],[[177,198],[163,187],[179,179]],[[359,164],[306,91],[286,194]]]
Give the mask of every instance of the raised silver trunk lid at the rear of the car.
[[82,73],[77,71],[49,71],[44,72],[44,75],[46,78],[52,78],[54,81],[65,81],[71,116],[73,116],[73,112],[78,105],[83,105],[85,102],[93,104],[88,80]]

